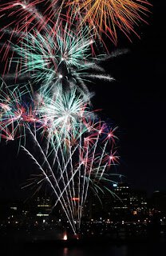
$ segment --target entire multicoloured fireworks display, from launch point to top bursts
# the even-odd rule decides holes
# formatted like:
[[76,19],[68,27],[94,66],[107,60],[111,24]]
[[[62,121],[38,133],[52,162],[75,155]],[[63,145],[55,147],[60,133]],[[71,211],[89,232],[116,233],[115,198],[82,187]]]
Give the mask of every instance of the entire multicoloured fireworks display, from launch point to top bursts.
[[112,193],[110,177],[119,162],[117,128],[92,110],[86,86],[93,79],[113,80],[100,66],[107,58],[101,35],[116,44],[117,28],[128,38],[131,31],[136,34],[134,27],[145,22],[148,5],[145,0],[25,0],[0,5],[3,77],[17,82],[26,78],[30,84],[2,82],[0,139],[18,139],[18,148],[38,169],[26,187],[33,186],[35,193],[45,186],[53,208],[61,206],[74,234],[89,190],[99,200],[104,190]]

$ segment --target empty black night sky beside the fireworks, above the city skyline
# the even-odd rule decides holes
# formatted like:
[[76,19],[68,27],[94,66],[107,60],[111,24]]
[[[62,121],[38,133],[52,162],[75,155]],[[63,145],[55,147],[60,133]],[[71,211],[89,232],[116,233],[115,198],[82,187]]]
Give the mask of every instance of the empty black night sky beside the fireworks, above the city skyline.
[[[102,109],[101,116],[118,126],[118,152],[121,157],[117,172],[133,187],[166,190],[165,168],[165,7],[164,0],[153,3],[149,25],[139,28],[140,39],[123,35],[117,49],[128,53],[102,63],[114,82],[89,85],[95,92],[93,108]],[[109,49],[115,48],[108,42]],[[115,48],[116,49],[116,48]],[[1,145],[1,198],[17,198],[20,183],[29,178],[28,162],[22,154],[16,160],[13,146]],[[18,165],[21,159],[22,165]],[[19,177],[19,178],[18,178]]]

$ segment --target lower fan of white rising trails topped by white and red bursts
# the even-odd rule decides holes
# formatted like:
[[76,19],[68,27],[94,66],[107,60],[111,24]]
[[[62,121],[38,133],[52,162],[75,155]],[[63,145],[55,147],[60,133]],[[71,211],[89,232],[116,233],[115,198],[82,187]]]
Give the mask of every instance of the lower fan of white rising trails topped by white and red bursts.
[[[105,174],[111,166],[107,152],[115,145],[114,130],[111,140],[110,129],[90,109],[89,98],[77,94],[76,88],[64,92],[57,86],[54,94],[41,90],[33,95],[29,90],[4,86],[0,137],[6,142],[21,136],[30,138],[30,142],[19,140],[18,144],[40,174],[34,174],[26,186],[36,184],[37,190],[47,186],[55,202],[53,207],[60,203],[77,233],[88,191],[98,193],[102,190],[101,182],[106,181]],[[117,154],[112,157],[118,160]]]

